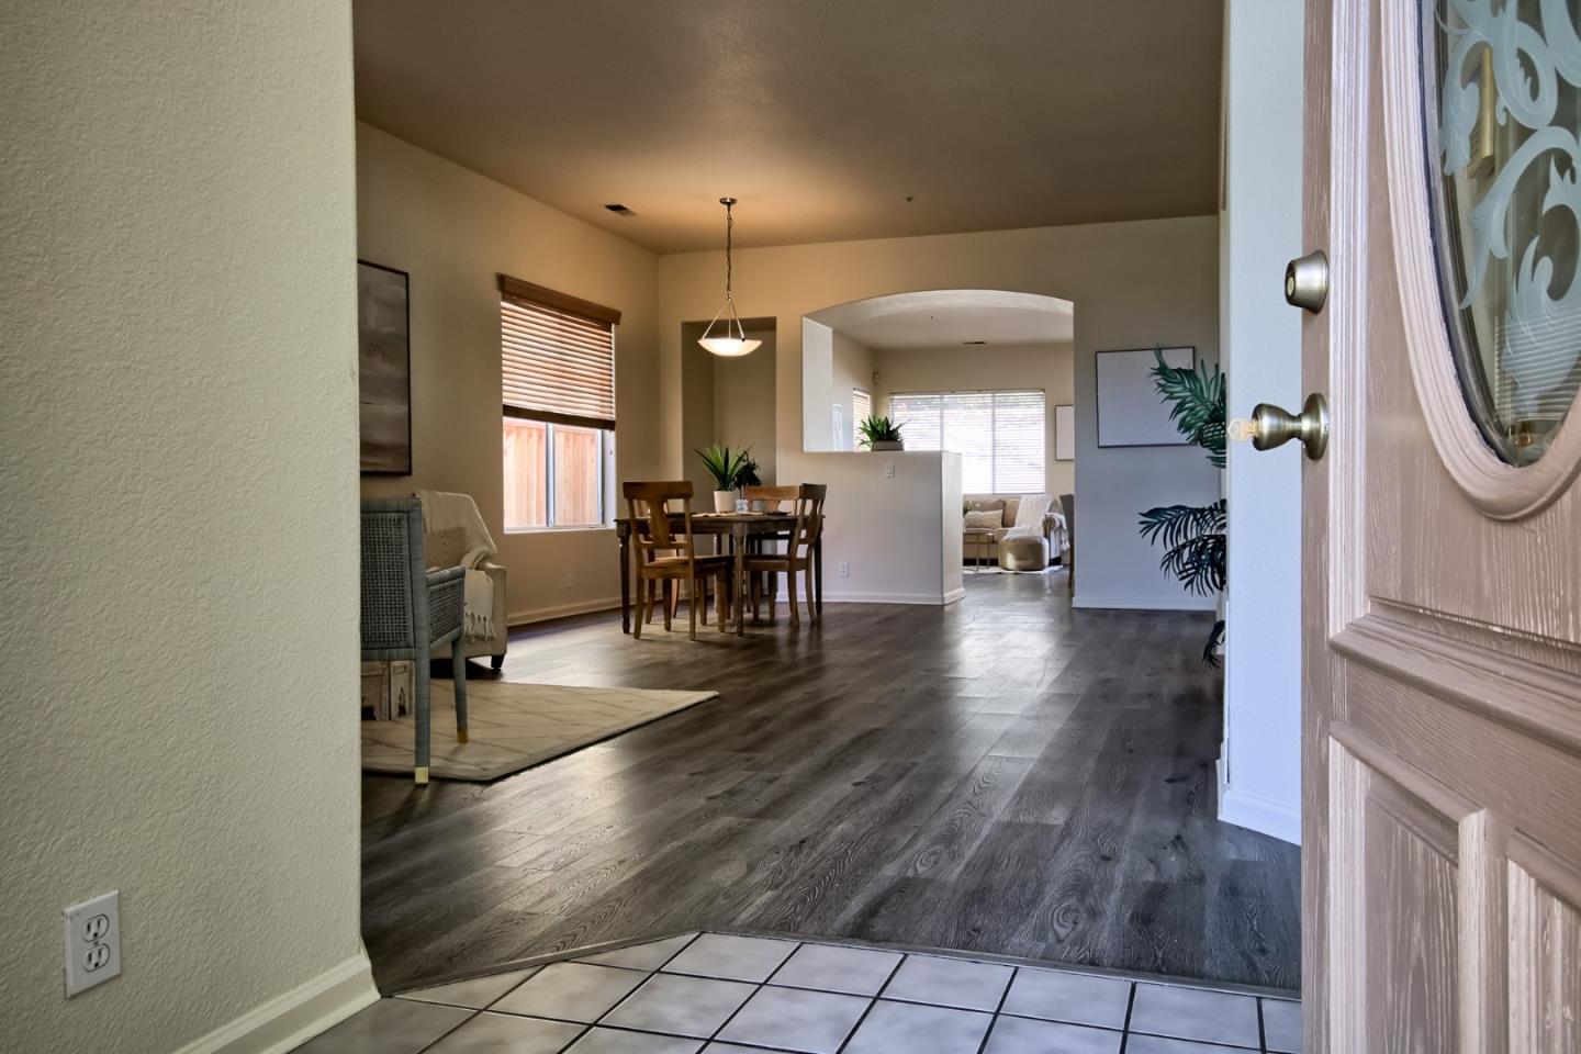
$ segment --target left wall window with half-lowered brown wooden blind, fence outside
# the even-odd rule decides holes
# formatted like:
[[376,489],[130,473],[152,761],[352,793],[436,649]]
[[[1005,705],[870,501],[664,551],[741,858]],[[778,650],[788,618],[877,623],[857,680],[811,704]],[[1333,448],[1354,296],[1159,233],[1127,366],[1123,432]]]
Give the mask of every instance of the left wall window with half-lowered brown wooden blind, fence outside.
[[508,531],[609,520],[620,311],[500,277]]

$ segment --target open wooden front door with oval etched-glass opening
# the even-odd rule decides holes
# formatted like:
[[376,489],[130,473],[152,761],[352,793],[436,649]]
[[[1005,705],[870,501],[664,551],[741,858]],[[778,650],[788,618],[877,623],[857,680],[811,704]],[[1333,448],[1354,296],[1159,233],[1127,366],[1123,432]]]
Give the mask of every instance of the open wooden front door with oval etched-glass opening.
[[[1453,5],[1455,17],[1505,19],[1461,52],[1467,71],[1553,62],[1581,81],[1581,41],[1562,49],[1581,3]],[[1423,17],[1413,0],[1307,2],[1306,248],[1326,251],[1331,275],[1328,305],[1306,321],[1303,376],[1328,395],[1333,433],[1303,484],[1306,1049],[1575,1052],[1581,412],[1556,409],[1551,392],[1523,403],[1530,371],[1508,356],[1488,360],[1492,401],[1505,419],[1537,406],[1541,420],[1489,433],[1461,389],[1466,322],[1445,307],[1434,251],[1442,172],[1424,144],[1440,125],[1423,93]],[[1545,28],[1553,46],[1534,43]],[[1538,49],[1524,66],[1480,60],[1478,46],[1511,40]],[[1532,84],[1546,90],[1541,74]],[[1502,155],[1489,156],[1461,180],[1467,196],[1499,177]],[[1545,175],[1560,190],[1567,177],[1564,164]],[[1526,201],[1541,212],[1553,194]],[[1572,273],[1581,283],[1575,226],[1527,258],[1553,258],[1551,294]],[[1483,299],[1515,319],[1521,281]],[[1541,457],[1508,446],[1530,435]]]

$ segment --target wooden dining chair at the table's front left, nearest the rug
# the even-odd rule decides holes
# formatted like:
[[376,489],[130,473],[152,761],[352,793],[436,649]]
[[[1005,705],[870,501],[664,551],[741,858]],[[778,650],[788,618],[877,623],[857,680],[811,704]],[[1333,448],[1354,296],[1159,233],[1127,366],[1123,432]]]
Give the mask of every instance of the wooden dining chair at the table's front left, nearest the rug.
[[[691,600],[686,604],[691,618],[691,638],[697,640],[699,607],[708,605],[708,578],[716,580],[715,616],[719,621],[719,632],[726,632],[730,613],[730,577],[735,564],[729,556],[713,556],[697,553],[697,536],[691,526],[692,485],[688,480],[667,480],[658,484],[621,484],[626,496],[626,510],[631,515],[631,542],[637,550],[637,618],[632,623],[632,637],[642,637],[642,626],[653,610],[651,585],[664,583],[666,600],[670,588],[681,582],[691,589]],[[670,523],[670,503],[681,503],[681,529]],[[636,529],[639,523],[647,523],[647,531]],[[670,605],[664,605],[664,629],[670,629]],[[704,616],[707,619],[707,615]]]

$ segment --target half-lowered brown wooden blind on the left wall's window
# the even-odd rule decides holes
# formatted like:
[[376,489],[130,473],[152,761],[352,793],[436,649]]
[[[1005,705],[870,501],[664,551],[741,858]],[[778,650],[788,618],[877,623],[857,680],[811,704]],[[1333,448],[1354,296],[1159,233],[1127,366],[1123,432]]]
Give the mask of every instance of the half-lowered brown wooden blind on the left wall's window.
[[620,311],[500,275],[504,416],[615,428]]

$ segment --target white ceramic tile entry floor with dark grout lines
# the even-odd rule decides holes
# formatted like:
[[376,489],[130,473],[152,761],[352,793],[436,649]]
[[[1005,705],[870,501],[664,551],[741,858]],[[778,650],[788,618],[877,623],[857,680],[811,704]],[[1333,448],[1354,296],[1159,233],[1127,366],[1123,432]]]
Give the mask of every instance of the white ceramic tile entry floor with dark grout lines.
[[381,999],[297,1054],[1300,1054],[1296,1002],[681,934]]

